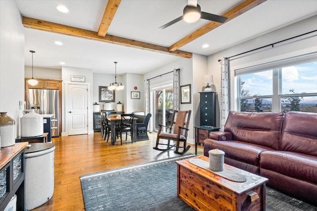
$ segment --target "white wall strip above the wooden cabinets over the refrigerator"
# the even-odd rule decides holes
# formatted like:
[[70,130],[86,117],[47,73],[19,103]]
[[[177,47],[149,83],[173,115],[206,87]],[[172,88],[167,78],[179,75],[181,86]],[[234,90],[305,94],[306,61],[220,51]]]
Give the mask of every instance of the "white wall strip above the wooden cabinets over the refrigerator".
[[[33,56],[36,56],[36,54]],[[26,78],[32,78],[32,66],[24,67],[24,76]],[[61,80],[61,69],[33,67],[33,77]]]

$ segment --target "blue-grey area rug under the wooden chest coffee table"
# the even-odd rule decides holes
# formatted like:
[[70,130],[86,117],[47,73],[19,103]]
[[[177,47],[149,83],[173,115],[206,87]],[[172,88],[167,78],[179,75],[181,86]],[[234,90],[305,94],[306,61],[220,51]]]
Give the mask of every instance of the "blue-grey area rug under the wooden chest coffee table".
[[[176,160],[164,159],[80,176],[86,211],[193,211],[176,196]],[[266,187],[266,211],[317,207]]]

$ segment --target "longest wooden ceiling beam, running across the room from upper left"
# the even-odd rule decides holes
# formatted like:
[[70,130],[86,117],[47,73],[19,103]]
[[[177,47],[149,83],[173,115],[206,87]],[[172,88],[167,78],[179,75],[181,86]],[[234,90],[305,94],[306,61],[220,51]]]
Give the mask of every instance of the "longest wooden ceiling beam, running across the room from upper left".
[[63,35],[69,35],[73,37],[85,38],[89,40],[101,41],[111,44],[117,44],[121,46],[142,49],[158,53],[167,53],[171,55],[176,55],[184,58],[191,58],[192,53],[184,51],[169,51],[168,47],[158,46],[150,43],[144,43],[141,41],[130,40],[126,38],[121,38],[112,35],[106,35],[105,37],[98,36],[97,32],[89,31],[86,29],[80,29],[72,26],[66,26],[58,23],[53,23],[49,21],[39,20],[35,18],[22,17],[22,24],[26,28],[37,29],[46,32],[53,32]]

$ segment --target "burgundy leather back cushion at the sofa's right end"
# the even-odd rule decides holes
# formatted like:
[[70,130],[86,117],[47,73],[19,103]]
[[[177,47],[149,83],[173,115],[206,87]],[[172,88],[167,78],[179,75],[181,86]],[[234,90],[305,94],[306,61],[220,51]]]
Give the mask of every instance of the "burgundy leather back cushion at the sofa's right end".
[[280,150],[317,156],[317,113],[289,111],[284,118]]

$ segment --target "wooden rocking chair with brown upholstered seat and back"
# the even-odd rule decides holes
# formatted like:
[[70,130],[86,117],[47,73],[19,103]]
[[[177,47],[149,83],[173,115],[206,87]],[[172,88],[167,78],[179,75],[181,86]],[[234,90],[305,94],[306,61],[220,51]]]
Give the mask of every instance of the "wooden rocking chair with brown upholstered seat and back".
[[[157,137],[157,143],[156,146],[153,147],[155,150],[159,151],[167,151],[170,150],[173,147],[176,147],[174,153],[178,155],[183,155],[186,153],[190,146],[186,146],[187,142],[187,135],[188,135],[188,126],[189,126],[189,120],[190,120],[190,114],[191,110],[174,110],[172,119],[170,122],[169,127],[164,126],[164,125],[159,125],[159,132],[158,132],[158,137]],[[163,132],[162,127],[167,128],[168,132]],[[165,142],[159,142],[160,139],[165,139],[167,140]],[[170,141],[176,141],[176,144],[171,145]],[[183,146],[179,146],[179,143],[183,142]],[[166,145],[166,149],[160,149],[159,145]],[[183,148],[184,150],[182,152],[179,152],[179,148]]]

